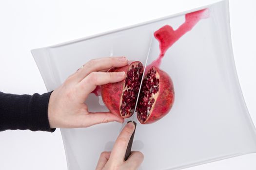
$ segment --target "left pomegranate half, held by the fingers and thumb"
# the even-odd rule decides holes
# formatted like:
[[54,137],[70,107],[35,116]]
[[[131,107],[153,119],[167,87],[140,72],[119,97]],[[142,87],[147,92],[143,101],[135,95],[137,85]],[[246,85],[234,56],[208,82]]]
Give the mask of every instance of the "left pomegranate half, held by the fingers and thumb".
[[135,61],[121,68],[111,68],[108,72],[118,71],[126,73],[125,80],[102,85],[101,97],[112,113],[122,118],[129,118],[134,113],[143,65],[139,61]]

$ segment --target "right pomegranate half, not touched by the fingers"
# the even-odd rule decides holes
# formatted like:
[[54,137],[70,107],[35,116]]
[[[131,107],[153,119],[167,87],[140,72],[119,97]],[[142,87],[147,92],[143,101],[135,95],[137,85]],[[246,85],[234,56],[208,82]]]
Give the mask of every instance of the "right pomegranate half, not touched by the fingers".
[[142,81],[137,118],[142,124],[153,123],[164,117],[174,102],[173,82],[169,75],[157,67],[151,67]]

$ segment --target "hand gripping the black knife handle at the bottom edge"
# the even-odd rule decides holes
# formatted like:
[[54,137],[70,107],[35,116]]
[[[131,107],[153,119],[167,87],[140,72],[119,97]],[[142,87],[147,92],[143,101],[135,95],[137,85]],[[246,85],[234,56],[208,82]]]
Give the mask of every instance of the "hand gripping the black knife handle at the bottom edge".
[[143,154],[139,151],[131,152],[129,158],[124,161],[125,152],[135,129],[130,122],[126,124],[118,136],[112,152],[103,152],[98,159],[96,170],[137,170],[143,161]]

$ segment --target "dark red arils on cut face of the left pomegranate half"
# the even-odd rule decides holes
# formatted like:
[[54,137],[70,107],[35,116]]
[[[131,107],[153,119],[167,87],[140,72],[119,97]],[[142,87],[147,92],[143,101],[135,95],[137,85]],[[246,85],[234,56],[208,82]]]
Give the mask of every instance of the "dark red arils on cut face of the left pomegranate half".
[[123,117],[134,113],[139,85],[143,74],[142,68],[143,66],[138,63],[138,65],[132,65],[128,70],[120,104],[120,111]]

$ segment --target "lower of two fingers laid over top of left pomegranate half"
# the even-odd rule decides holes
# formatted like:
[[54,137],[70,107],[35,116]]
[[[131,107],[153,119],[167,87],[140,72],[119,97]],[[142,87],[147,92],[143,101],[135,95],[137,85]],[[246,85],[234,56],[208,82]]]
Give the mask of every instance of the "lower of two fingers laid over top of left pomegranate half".
[[[97,85],[116,83],[124,80],[125,72],[92,72],[78,84],[78,94],[86,99]],[[84,100],[83,99],[83,100]]]

